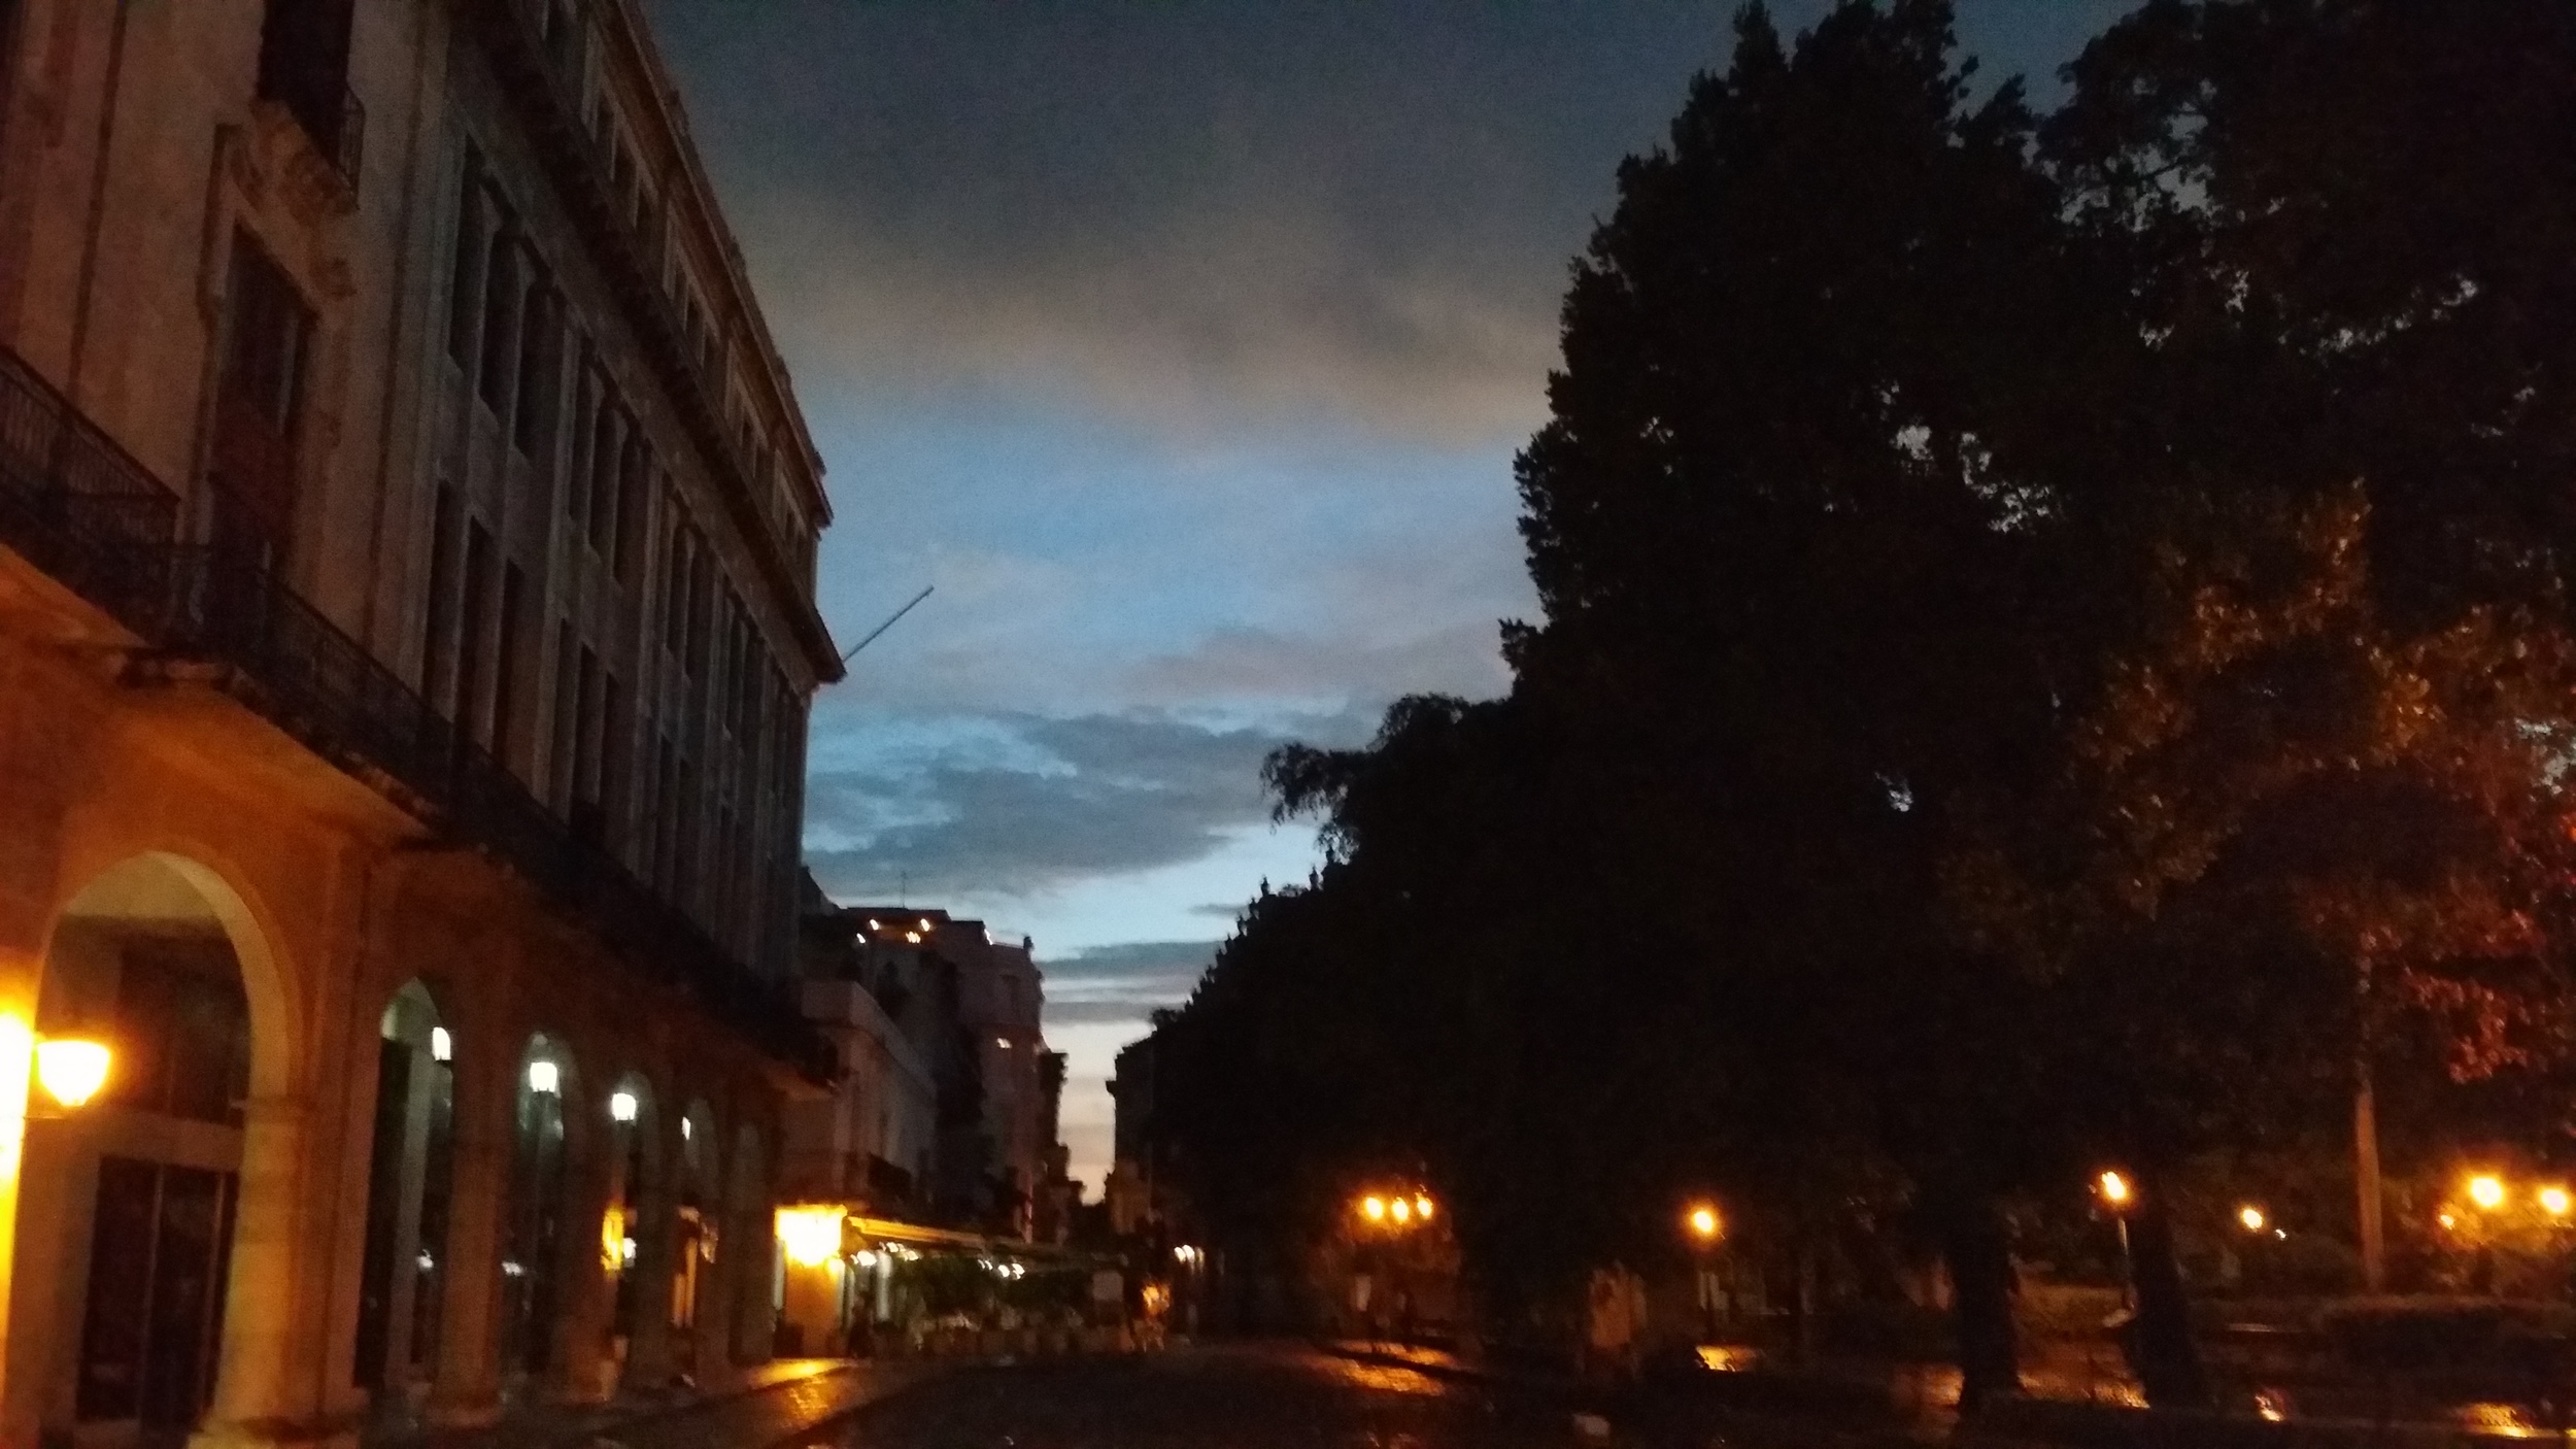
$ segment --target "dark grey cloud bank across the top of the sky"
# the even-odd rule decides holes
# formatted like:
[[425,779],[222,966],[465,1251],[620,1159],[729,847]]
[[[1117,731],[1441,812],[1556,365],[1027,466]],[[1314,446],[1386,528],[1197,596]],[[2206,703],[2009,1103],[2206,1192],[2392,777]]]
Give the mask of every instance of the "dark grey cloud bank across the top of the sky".
[[[2117,0],[1963,0],[1989,75]],[[1731,5],[654,0],[811,392],[1528,433],[1564,258]],[[1790,28],[1824,0],[1775,5]]]

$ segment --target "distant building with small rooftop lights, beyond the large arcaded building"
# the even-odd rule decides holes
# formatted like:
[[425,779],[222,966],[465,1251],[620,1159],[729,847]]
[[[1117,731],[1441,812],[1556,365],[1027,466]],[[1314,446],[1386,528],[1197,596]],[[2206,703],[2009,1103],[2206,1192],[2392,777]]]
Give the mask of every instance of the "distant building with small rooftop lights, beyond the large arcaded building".
[[806,1016],[842,1042],[850,1075],[832,1104],[796,1109],[796,1183],[811,1201],[899,1201],[1033,1238],[1064,1158],[1030,944],[945,910],[806,902]]

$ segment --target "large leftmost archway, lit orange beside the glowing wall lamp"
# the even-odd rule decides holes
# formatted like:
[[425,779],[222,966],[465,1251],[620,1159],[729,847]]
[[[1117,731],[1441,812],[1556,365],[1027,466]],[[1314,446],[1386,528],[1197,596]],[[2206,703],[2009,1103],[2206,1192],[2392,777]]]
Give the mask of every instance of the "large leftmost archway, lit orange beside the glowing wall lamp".
[[57,1333],[33,1361],[13,1348],[10,1374],[64,1439],[175,1441],[214,1403],[252,1078],[283,1075],[250,962],[273,985],[250,910],[180,856],[103,871],[54,920],[36,1031],[113,1049],[90,1106],[26,1134],[18,1294]]

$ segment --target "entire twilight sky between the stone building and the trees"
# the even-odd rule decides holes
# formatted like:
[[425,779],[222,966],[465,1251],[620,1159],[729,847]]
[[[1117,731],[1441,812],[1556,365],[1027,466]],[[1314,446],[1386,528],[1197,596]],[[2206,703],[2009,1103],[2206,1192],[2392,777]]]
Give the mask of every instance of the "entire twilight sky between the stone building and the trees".
[[[1734,3],[647,8],[829,467],[824,616],[938,585],[817,704],[814,871],[1036,936],[1097,1191],[1118,1044],[1314,864],[1262,755],[1510,683],[1566,260]],[[2125,8],[1960,39],[2050,98]]]

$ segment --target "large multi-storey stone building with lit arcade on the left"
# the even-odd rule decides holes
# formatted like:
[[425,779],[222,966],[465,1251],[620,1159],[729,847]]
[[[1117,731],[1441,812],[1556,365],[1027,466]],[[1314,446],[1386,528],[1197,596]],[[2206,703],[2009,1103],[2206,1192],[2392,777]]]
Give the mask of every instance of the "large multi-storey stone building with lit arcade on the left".
[[0,0],[0,1444],[770,1351],[827,518],[634,0]]

